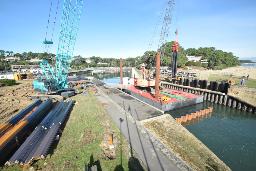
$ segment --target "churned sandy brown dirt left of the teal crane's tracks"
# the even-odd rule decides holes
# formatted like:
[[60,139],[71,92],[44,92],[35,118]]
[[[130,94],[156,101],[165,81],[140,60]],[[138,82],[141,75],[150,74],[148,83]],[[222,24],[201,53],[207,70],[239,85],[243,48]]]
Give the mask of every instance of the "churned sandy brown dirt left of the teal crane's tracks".
[[38,94],[32,89],[32,81],[16,84],[18,85],[0,88],[0,125],[34,102],[29,101],[28,96]]

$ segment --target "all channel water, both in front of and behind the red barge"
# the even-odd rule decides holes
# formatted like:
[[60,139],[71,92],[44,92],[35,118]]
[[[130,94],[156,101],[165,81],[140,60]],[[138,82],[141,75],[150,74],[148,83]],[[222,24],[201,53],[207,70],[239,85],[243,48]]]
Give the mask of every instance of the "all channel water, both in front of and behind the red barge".
[[[103,72],[84,74],[82,76],[93,76],[103,82],[120,82],[120,72]],[[130,76],[131,71],[123,72],[123,77]],[[233,171],[255,170],[255,114],[208,101],[165,113],[169,113],[172,117],[176,118],[207,107],[213,107],[212,114],[192,120],[183,126]]]

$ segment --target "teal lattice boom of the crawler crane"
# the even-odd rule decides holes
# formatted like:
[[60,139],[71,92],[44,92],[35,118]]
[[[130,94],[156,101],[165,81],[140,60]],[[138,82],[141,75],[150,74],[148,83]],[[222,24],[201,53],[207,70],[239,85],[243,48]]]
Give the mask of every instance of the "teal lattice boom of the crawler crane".
[[63,88],[68,87],[66,78],[72,61],[83,2],[84,0],[76,0],[76,4],[72,5],[71,0],[65,0],[63,5],[58,53],[53,70],[54,73],[56,71],[55,79]]

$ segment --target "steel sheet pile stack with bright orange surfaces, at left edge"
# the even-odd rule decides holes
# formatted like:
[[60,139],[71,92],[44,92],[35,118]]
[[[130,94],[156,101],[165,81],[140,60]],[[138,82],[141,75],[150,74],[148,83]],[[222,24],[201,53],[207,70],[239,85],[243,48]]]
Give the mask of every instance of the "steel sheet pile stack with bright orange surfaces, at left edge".
[[7,160],[20,142],[28,135],[28,132],[36,126],[37,122],[52,107],[52,100],[36,100],[33,104],[22,110],[0,127],[0,163]]

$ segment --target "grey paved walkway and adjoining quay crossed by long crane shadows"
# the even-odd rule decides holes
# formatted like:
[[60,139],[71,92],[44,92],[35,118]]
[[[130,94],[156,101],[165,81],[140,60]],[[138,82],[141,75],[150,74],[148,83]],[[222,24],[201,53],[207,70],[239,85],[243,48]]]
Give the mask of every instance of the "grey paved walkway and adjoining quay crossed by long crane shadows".
[[[151,143],[126,117],[128,115],[127,113],[129,113],[138,120],[144,120],[147,119],[148,116],[154,117],[154,115],[159,115],[161,112],[117,89],[110,89],[112,94],[106,95],[105,92],[108,89],[104,88],[104,82],[98,79],[93,79],[92,82],[98,87],[96,97],[99,99],[100,103],[108,104],[105,110],[145,167],[151,171],[180,171],[180,169],[172,164],[171,160],[161,152],[161,149]],[[127,113],[122,113],[120,108],[124,109]],[[132,151],[131,155],[133,155]]]

